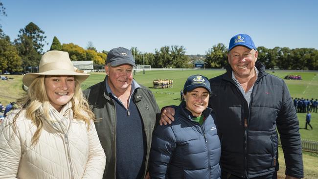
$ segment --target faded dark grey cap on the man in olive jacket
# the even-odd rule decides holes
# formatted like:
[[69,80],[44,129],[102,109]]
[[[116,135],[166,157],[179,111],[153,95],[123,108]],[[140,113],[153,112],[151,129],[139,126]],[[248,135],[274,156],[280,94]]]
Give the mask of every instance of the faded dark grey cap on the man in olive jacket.
[[130,64],[136,67],[132,52],[123,47],[113,48],[109,51],[106,58],[106,65],[108,63],[110,63],[112,67],[122,64]]

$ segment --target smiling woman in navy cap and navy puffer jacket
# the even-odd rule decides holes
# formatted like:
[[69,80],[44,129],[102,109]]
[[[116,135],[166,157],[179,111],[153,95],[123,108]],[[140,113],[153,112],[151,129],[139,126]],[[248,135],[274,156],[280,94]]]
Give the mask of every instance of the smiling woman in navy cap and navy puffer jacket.
[[206,77],[188,77],[175,122],[155,130],[149,169],[152,179],[220,178],[221,145],[214,112],[207,108],[210,93]]

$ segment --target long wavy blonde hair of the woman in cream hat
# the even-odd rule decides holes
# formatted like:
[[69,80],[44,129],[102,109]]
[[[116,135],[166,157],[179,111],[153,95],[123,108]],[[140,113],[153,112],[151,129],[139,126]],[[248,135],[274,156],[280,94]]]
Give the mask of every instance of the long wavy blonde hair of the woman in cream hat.
[[[91,120],[95,118],[94,113],[91,112],[88,101],[84,98],[80,83],[75,76],[75,90],[74,96],[70,100],[72,103],[73,118],[83,120],[87,124],[87,130],[90,129]],[[41,75],[33,80],[29,86],[27,94],[22,98],[17,99],[17,103],[21,106],[20,112],[25,110],[25,117],[30,119],[32,123],[37,126],[37,130],[32,136],[31,145],[38,142],[41,130],[43,127],[42,118],[49,118],[49,99],[45,90],[45,76]],[[43,108],[43,110],[41,110]],[[15,122],[19,117],[18,112],[13,119],[13,128],[15,131]]]

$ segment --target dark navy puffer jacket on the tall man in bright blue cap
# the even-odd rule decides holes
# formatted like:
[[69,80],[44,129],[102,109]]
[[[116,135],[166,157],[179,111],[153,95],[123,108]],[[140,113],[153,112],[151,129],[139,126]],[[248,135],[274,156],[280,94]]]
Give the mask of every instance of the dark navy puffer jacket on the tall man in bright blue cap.
[[284,151],[286,174],[303,178],[299,124],[285,82],[267,74],[256,62],[258,78],[251,94],[250,108],[232,80],[232,69],[210,79],[209,105],[216,113],[222,145],[223,171],[239,177],[260,177],[278,170],[278,136]]

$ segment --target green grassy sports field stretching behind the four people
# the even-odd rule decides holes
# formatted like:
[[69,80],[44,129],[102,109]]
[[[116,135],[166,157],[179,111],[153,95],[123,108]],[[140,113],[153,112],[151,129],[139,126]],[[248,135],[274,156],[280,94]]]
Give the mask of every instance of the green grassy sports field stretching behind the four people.
[[[183,88],[186,78],[193,74],[201,74],[207,78],[212,78],[223,74],[224,70],[153,70],[136,73],[134,78],[136,81],[153,91],[159,107],[167,105],[178,105],[180,103],[180,90]],[[268,71],[270,72],[270,71]],[[279,71],[270,72],[280,78],[286,75],[301,75],[303,80],[285,80],[292,97],[314,98],[318,99],[318,72],[289,72]],[[22,75],[9,75],[13,79],[8,81],[0,80],[0,102],[7,105],[10,101],[15,101],[23,94]],[[105,73],[92,73],[91,76],[82,84],[82,89],[86,89],[91,85],[102,81]],[[153,89],[154,79],[173,79],[173,88]],[[302,139],[318,141],[318,113],[312,113],[311,125],[313,130],[305,130],[305,113],[297,113],[300,134]],[[282,150],[279,150],[280,170],[279,176],[283,177],[285,171],[285,163],[283,160]],[[318,154],[303,152],[304,170],[306,179],[318,178]]]

